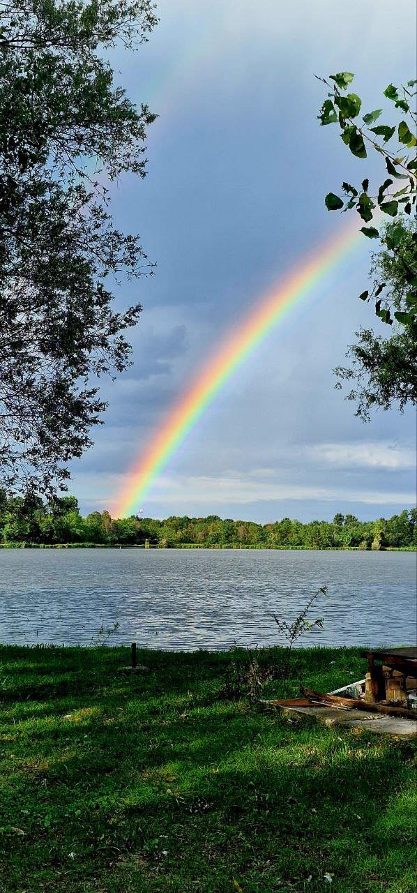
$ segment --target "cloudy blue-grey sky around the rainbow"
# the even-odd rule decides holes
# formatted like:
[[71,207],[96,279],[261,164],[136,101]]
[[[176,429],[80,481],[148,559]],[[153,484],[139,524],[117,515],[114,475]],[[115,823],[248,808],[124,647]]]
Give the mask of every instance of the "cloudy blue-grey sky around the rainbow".
[[[353,71],[363,112],[393,106],[392,82],[414,77],[415,6],[397,0],[163,0],[149,42],[116,50],[118,83],[158,114],[145,180],[112,188],[118,227],[138,232],[155,275],[115,288],[139,300],[134,364],[102,384],[109,401],[94,447],[72,463],[83,513],[115,504],[154,431],[221,338],[319,249],[347,215],[324,196],[342,180],[383,179],[378,156],[354,158],[317,121],[314,74]],[[385,118],[384,118],[385,121]],[[358,219],[358,226],[360,221]],[[415,503],[415,414],[370,424],[335,390],[333,368],[360,325],[387,327],[358,295],[367,239],[273,328],[229,378],[137,505],[171,514],[271,522],[363,519]]]

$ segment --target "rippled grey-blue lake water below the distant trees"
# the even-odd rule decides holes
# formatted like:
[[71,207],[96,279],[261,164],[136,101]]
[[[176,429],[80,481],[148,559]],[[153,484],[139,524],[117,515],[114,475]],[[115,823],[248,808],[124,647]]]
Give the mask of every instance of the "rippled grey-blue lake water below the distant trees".
[[273,611],[313,609],[324,629],[302,644],[414,644],[416,556],[252,550],[0,550],[0,642],[222,648],[279,643]]

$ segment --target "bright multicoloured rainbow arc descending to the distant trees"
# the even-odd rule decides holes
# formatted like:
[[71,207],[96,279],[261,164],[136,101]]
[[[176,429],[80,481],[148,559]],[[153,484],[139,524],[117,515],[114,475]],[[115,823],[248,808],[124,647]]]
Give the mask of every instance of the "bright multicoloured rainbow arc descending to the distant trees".
[[150,438],[116,497],[113,507],[115,517],[132,514],[135,509],[138,511],[140,502],[157,475],[162,472],[171,455],[178,450],[188,431],[194,427],[224,383],[254,353],[271,328],[284,320],[293,307],[299,305],[362,238],[357,224],[349,226],[336,238],[331,238],[308,255],[301,265],[298,264],[294,271],[288,272],[283,280],[252,306],[221,346],[214,350],[194,383],[179,396]]

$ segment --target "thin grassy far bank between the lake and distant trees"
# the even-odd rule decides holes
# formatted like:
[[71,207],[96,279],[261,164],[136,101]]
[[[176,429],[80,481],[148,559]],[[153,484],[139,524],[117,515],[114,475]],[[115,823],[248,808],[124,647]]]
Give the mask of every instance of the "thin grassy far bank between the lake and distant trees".
[[260,552],[417,552],[417,546],[382,546],[364,548],[363,546],[242,546],[236,543],[180,543],[177,546],[161,546],[159,543],[119,544],[119,543],[0,543],[1,549],[253,549]]

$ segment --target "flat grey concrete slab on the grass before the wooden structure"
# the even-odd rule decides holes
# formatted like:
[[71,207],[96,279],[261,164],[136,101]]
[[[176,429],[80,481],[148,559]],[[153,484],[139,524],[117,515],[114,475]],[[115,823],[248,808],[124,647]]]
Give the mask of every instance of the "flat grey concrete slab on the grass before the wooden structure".
[[347,726],[350,729],[375,731],[379,735],[396,735],[400,738],[417,737],[417,718],[407,720],[402,716],[385,716],[382,714],[366,714],[362,710],[338,710],[337,707],[279,705],[275,701],[267,702],[285,714],[301,714],[313,716],[313,719],[325,725]]

